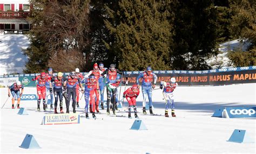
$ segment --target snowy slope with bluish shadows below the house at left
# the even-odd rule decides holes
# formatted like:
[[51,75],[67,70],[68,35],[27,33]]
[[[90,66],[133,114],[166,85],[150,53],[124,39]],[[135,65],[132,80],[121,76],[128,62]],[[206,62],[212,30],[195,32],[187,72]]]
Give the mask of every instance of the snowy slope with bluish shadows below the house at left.
[[22,49],[29,44],[29,39],[22,34],[0,35],[0,75],[23,73],[27,58]]

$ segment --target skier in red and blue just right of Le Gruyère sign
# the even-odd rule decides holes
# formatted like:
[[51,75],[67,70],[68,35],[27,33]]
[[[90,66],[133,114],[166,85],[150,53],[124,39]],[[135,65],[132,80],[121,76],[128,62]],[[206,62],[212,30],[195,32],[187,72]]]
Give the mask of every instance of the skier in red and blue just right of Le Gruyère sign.
[[95,89],[97,88],[97,79],[94,74],[90,74],[89,78],[84,76],[84,80],[82,81],[84,84],[84,99],[85,99],[85,116],[88,116],[88,104],[90,99],[90,107],[92,108],[92,117],[96,118],[95,116]]

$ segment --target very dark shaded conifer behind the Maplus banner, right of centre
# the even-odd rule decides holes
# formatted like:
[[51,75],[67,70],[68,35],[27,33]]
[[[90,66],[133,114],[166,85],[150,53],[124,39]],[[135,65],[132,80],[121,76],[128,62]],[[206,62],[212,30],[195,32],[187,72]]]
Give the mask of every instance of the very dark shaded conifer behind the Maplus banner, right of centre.
[[208,69],[206,59],[217,54],[217,13],[212,1],[179,1],[175,10],[171,56],[175,69]]

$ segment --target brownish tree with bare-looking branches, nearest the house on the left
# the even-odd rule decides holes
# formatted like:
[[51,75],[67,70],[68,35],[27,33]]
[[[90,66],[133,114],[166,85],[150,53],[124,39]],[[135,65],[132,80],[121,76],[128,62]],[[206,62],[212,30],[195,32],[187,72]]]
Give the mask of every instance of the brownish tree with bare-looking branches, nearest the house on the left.
[[31,4],[31,44],[24,51],[29,57],[24,72],[35,73],[47,67],[55,71],[73,71],[76,67],[83,70],[88,62],[84,57],[90,57],[85,52],[89,1],[33,0]]

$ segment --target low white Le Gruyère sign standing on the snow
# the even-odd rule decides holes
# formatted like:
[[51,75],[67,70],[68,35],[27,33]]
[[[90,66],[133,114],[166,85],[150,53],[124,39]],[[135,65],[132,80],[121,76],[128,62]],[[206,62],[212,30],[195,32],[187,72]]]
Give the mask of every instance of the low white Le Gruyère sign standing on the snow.
[[78,114],[49,114],[43,117],[42,124],[74,124],[80,123],[80,115]]

